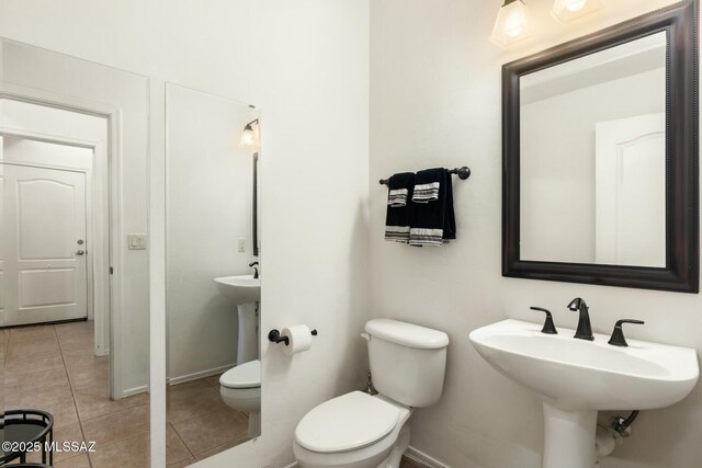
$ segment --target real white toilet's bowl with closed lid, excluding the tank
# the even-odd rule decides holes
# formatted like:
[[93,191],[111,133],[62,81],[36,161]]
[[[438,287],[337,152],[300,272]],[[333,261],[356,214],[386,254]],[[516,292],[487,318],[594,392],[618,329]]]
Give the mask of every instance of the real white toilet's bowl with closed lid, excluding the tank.
[[[398,467],[412,410],[382,395],[352,391],[318,406],[295,430],[301,468]],[[339,421],[343,421],[339,425]]]

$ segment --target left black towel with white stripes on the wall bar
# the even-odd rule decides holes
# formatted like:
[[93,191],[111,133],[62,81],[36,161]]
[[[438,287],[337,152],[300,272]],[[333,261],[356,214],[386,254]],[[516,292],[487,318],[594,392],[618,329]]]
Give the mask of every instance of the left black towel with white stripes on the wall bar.
[[[385,215],[385,240],[393,242],[409,242],[409,221],[411,218],[411,204],[415,186],[415,173],[401,172],[390,178],[387,183],[387,214]],[[403,199],[403,194],[404,199]]]

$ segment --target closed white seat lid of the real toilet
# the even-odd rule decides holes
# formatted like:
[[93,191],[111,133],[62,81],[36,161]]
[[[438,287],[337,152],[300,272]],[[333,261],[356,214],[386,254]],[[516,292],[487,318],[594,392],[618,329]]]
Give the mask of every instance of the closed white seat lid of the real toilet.
[[295,442],[318,454],[356,450],[386,437],[399,419],[397,406],[352,391],[309,411],[297,424]]

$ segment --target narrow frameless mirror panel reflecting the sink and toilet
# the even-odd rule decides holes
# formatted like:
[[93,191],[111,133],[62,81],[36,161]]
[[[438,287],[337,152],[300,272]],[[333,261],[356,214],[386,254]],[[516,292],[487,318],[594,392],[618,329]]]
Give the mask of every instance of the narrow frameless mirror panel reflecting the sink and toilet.
[[166,87],[168,431],[193,459],[260,435],[258,111]]

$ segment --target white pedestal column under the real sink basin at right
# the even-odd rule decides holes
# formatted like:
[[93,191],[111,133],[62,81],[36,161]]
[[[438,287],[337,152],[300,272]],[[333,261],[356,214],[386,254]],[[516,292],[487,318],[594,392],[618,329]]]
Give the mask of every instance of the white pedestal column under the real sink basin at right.
[[543,468],[593,468],[597,411],[564,411],[544,401]]

